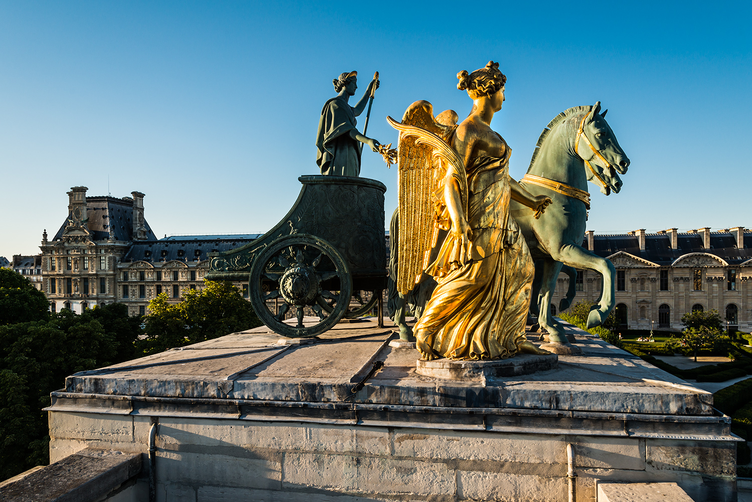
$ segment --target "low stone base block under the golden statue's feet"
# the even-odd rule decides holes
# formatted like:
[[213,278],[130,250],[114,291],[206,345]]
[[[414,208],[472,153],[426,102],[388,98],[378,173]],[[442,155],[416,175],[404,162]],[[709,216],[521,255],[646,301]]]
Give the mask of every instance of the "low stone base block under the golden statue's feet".
[[452,361],[450,359],[423,361],[419,359],[415,372],[437,379],[484,382],[487,378],[529,375],[536,371],[556,370],[558,367],[559,357],[556,354],[518,354],[509,359],[494,361]]

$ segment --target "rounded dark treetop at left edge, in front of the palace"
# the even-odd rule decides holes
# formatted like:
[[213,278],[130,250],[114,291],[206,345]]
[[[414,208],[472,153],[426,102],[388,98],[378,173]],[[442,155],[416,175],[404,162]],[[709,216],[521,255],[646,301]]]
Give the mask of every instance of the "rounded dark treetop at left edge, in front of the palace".
[[0,268],[0,324],[42,321],[50,316],[47,296],[13,269]]

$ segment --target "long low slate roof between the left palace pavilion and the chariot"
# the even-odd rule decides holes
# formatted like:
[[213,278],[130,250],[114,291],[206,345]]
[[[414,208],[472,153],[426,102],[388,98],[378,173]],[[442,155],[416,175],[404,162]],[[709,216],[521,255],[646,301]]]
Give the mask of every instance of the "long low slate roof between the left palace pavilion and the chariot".
[[254,241],[262,234],[238,234],[227,236],[170,236],[156,242],[134,242],[129,248],[123,263],[144,260],[160,261],[201,261],[207,260],[209,252],[229,251],[248,242]]

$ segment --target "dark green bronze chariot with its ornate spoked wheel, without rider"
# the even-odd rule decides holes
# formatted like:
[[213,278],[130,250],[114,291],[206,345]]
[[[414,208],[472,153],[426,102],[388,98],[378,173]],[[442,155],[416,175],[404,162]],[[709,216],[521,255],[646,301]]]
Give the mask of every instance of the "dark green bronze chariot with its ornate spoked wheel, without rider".
[[[343,318],[360,317],[374,307],[381,325],[381,297],[387,288],[387,187],[349,176],[298,180],[303,187],[287,215],[259,239],[209,254],[206,278],[248,281],[256,314],[283,336],[317,336]],[[318,321],[308,318],[304,324],[306,313]],[[290,317],[296,318],[293,324],[284,322]]]

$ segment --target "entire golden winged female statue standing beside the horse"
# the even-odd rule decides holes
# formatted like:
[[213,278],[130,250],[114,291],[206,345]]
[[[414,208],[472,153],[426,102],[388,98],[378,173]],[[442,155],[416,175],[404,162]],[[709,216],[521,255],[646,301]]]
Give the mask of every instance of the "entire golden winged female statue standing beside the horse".
[[459,125],[454,111],[434,117],[426,101],[410,105],[402,122],[387,117],[399,130],[396,286],[407,294],[423,272],[438,283],[414,327],[424,359],[547,354],[525,337],[535,269],[509,201],[541,213],[550,199],[510,178],[511,150],[490,128],[505,99],[499,64],[457,78],[473,100]]

